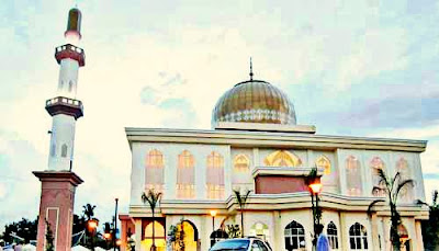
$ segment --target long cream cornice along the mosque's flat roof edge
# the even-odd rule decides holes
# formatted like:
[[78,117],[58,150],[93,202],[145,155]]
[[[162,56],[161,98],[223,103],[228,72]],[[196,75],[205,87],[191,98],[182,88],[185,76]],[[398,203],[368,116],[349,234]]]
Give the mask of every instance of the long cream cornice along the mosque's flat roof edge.
[[125,127],[132,142],[214,144],[232,147],[401,150],[423,152],[427,140],[224,129]]

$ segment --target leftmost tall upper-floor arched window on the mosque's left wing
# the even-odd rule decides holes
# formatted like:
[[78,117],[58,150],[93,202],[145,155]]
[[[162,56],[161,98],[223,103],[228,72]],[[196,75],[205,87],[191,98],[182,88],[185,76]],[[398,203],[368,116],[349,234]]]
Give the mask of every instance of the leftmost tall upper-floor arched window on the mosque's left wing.
[[164,191],[164,155],[159,150],[151,150],[146,156],[145,190]]

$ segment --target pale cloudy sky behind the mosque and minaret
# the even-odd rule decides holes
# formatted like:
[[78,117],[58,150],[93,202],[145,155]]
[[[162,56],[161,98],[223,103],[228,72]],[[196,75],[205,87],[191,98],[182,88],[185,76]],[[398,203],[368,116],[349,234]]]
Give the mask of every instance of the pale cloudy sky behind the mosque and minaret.
[[126,213],[131,151],[124,127],[211,128],[237,82],[281,88],[299,124],[320,135],[428,140],[427,199],[439,189],[439,2],[3,0],[0,4],[0,231],[33,219],[47,168],[67,13],[82,11],[86,67],[77,98],[75,213]]

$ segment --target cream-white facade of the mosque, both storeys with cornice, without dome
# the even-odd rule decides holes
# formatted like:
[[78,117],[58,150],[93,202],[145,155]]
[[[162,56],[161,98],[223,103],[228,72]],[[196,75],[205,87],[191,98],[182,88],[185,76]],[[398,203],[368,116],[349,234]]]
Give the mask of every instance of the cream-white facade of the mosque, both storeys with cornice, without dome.
[[[162,219],[165,232],[168,232],[171,225],[178,225],[181,219],[191,223],[199,235],[196,248],[191,246],[189,250],[209,250],[210,236],[213,230],[210,210],[218,212],[214,229],[240,224],[238,207],[233,196],[234,187],[247,187],[254,191],[244,213],[244,233],[246,236],[255,233],[261,236],[269,241],[273,250],[301,250],[292,249],[291,244],[286,249],[290,235],[288,232],[291,232],[289,226],[293,226],[290,224],[295,221],[304,229],[304,250],[312,250],[313,216],[309,193],[297,191],[264,194],[258,192],[256,187],[256,176],[260,170],[273,170],[275,173],[277,168],[280,168],[267,167],[267,158],[270,158],[273,152],[288,152],[296,158],[297,164],[283,167],[283,169],[306,170],[315,167],[316,161],[322,157],[330,163],[330,170],[322,176],[322,224],[325,225],[325,231],[329,223],[337,228],[338,250],[350,250],[352,238],[367,241],[367,250],[389,250],[389,208],[385,204],[379,204],[375,206],[372,217],[367,215],[368,206],[376,198],[372,195],[373,167],[379,163],[389,176],[393,176],[396,171],[402,171],[399,169],[408,169],[408,171],[403,171],[405,179],[414,179],[416,183],[399,198],[398,209],[408,233],[410,250],[423,250],[420,219],[427,218],[428,212],[414,204],[414,199],[425,198],[419,153],[425,150],[426,141],[320,136],[294,132],[260,134],[248,130],[218,129],[127,128],[126,134],[132,149],[133,167],[131,206],[125,218],[130,220],[123,220],[123,232],[126,232],[127,228],[132,228],[131,232],[135,232],[136,240],[148,238],[146,228],[150,223],[150,210],[142,203],[140,194],[146,191],[148,182],[146,164],[148,155],[155,151],[160,152],[164,169],[161,190],[164,196],[158,217]],[[191,198],[179,197],[177,194],[179,155],[183,151],[189,151],[194,160],[195,195]],[[210,179],[207,156],[212,152],[216,152],[224,159],[222,166],[224,169],[224,196],[215,199],[209,198],[207,193],[210,192],[206,189],[206,179]],[[234,169],[236,168],[236,157],[240,155],[248,158],[249,170],[244,174],[240,173],[237,179],[237,172]],[[351,172],[352,167],[358,170],[356,179],[361,181],[358,186],[353,184],[353,189],[348,173]],[[237,180],[243,182],[243,179],[247,179],[244,185],[234,183]],[[272,186],[277,185],[280,184],[272,184]],[[360,225],[367,236],[353,237],[350,229]],[[126,235],[122,235],[122,239],[126,238]],[[296,237],[291,237],[290,240]],[[361,249],[364,248],[364,242],[362,242]],[[136,242],[136,250],[147,249],[147,241]],[[164,249],[159,248],[159,250]]]

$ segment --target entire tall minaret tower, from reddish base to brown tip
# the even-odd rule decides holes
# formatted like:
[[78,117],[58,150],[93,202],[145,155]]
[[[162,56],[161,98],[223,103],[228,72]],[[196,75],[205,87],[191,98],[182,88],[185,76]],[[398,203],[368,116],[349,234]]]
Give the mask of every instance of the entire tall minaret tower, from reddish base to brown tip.
[[57,93],[46,101],[46,111],[53,118],[48,167],[33,172],[42,182],[37,251],[49,244],[45,237],[47,227],[53,231],[54,250],[70,250],[75,191],[82,183],[71,171],[76,121],[83,115],[82,102],[76,99],[78,70],[86,62],[83,49],[77,46],[81,38],[81,12],[77,8],[69,11],[64,36],[67,44],[55,49],[59,64]]

